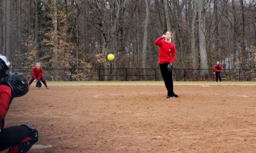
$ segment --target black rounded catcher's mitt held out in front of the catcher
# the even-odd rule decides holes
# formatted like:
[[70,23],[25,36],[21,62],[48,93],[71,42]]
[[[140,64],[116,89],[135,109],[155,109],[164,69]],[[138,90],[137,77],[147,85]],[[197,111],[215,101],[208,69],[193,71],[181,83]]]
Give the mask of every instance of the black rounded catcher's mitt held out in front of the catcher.
[[13,89],[14,97],[21,97],[28,92],[28,82],[23,73],[11,73],[9,83]]

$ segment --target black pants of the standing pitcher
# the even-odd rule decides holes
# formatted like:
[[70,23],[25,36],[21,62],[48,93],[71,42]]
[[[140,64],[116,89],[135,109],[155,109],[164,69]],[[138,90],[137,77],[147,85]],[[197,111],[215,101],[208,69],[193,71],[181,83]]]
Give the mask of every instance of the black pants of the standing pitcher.
[[162,78],[165,81],[165,87],[168,91],[168,96],[171,96],[174,94],[173,91],[173,80],[172,80],[172,70],[169,72],[168,71],[168,63],[165,64],[159,64],[160,65],[160,70],[162,73]]

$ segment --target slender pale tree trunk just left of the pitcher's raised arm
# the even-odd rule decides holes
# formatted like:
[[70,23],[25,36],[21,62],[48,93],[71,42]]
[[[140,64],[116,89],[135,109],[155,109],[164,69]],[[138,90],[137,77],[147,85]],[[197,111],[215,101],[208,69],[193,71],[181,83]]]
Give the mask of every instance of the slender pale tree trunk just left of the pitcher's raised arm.
[[[143,39],[142,39],[142,68],[146,68],[146,61],[147,61],[147,42],[148,42],[148,27],[149,27],[149,1],[145,0],[146,2],[146,18],[144,24],[144,31],[143,31]],[[145,74],[146,72],[144,72]]]

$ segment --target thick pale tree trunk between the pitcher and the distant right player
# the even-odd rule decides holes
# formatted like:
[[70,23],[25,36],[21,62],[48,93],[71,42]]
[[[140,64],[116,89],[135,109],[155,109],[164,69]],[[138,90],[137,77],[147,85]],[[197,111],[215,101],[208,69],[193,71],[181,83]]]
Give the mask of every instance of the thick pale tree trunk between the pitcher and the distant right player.
[[[209,69],[208,58],[206,52],[206,38],[205,38],[205,14],[204,14],[204,1],[197,0],[198,7],[198,21],[199,21],[199,52],[200,52],[200,69]],[[200,76],[209,76],[208,70],[201,70]]]

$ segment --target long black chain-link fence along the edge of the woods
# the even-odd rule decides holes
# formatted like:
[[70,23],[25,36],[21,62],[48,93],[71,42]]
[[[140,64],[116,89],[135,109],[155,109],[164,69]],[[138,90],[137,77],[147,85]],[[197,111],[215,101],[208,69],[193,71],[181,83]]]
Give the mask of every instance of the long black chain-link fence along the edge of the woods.
[[[173,79],[176,81],[211,81],[215,80],[212,69],[207,76],[200,76],[203,69],[174,69]],[[24,73],[30,78],[32,69],[13,68],[13,72]],[[256,81],[255,69],[224,69],[221,72],[222,80],[229,81]],[[162,80],[159,68],[98,68],[87,69],[54,69],[44,68],[43,77],[51,81],[158,81]]]

